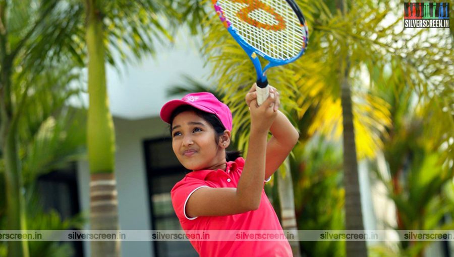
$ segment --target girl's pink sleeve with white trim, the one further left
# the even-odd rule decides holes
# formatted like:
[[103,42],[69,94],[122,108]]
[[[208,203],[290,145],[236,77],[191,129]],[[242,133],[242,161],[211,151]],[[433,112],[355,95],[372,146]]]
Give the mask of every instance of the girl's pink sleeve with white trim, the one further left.
[[174,207],[177,217],[181,220],[193,220],[197,217],[188,217],[186,215],[186,203],[189,197],[199,188],[208,187],[203,181],[188,180],[187,178],[175,184],[171,191],[172,205]]

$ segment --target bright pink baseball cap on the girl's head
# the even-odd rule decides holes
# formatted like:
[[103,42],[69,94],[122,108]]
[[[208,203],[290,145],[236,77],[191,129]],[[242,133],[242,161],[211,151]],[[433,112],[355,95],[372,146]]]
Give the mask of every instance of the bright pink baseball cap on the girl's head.
[[224,125],[224,128],[232,131],[232,112],[229,107],[208,92],[191,93],[184,96],[181,100],[168,101],[161,108],[161,119],[171,123],[172,113],[182,105],[190,105],[201,111],[216,115],[222,125]]

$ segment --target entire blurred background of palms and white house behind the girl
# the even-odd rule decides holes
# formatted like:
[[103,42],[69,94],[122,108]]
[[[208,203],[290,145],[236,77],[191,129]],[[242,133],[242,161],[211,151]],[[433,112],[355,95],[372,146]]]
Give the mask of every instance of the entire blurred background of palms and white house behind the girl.
[[[282,227],[453,229],[454,27],[404,29],[402,1],[296,2],[306,53],[268,72],[300,132],[265,185]],[[115,174],[112,228],[180,229],[170,190],[185,170],[160,107],[212,92],[246,152],[255,80],[210,1],[0,0],[0,229],[93,228],[99,173]],[[295,256],[454,256],[452,241],[291,243]],[[187,241],[0,241],[0,256],[108,254],[197,256]]]

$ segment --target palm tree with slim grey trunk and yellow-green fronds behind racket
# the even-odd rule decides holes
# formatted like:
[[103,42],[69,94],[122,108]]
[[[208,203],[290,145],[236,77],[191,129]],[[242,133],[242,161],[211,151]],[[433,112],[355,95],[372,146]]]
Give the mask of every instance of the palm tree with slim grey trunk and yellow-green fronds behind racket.
[[[305,56],[296,61],[293,65],[286,67],[275,68],[270,70],[269,77],[272,84],[279,85],[282,92],[282,102],[287,104],[290,109],[298,111],[298,116],[302,117],[311,106],[325,106],[331,102],[330,106],[338,106],[342,103],[342,109],[329,109],[332,111],[331,120],[337,116],[337,110],[342,110],[344,123],[344,144],[345,144],[345,161],[344,172],[346,180],[346,190],[349,191],[346,195],[346,215],[347,229],[362,229],[361,205],[359,198],[359,186],[356,167],[356,149],[358,147],[358,155],[373,156],[375,151],[383,145],[382,135],[386,136],[384,128],[389,126],[389,106],[376,97],[372,92],[367,92],[363,85],[367,83],[359,79],[363,67],[367,67],[366,76],[369,77],[369,87],[374,86],[374,81],[380,77],[375,72],[376,66],[384,65],[384,63],[398,62],[405,64],[398,69],[400,76],[406,76],[409,70],[414,70],[412,73],[417,75],[417,71],[421,70],[418,65],[421,61],[415,59],[402,59],[406,48],[394,44],[393,42],[402,41],[407,38],[404,34],[395,32],[395,28],[399,22],[396,20],[390,25],[382,25],[390,11],[380,11],[376,9],[374,1],[364,3],[356,3],[353,5],[350,2],[338,2],[338,10],[343,7],[343,12],[336,12],[336,6],[333,3],[315,2],[307,3],[299,1],[300,7],[305,12],[309,23],[311,37],[309,47]],[[347,8],[349,10],[347,12]],[[365,16],[366,15],[366,16]],[[368,22],[363,22],[367,20]],[[246,87],[253,81],[254,74],[249,72],[250,64],[248,59],[242,53],[242,50],[236,47],[235,42],[229,37],[225,37],[223,30],[216,27],[216,21],[210,20],[207,22],[213,29],[207,33],[207,47],[204,49],[208,55],[213,56],[210,60],[213,61],[213,75],[218,79],[219,85],[227,90],[226,98],[230,105],[239,115],[236,116],[236,124],[239,124],[241,132],[239,144],[246,144],[247,138],[247,121],[244,115],[247,113],[242,109],[242,96],[245,94]],[[379,28],[377,32],[376,28]],[[389,39],[392,38],[392,39]],[[218,42],[223,42],[222,46],[218,46]],[[430,48],[425,49],[428,52]],[[422,50],[422,49],[421,49]],[[450,56],[448,51],[443,51],[444,56]],[[405,56],[408,56],[405,55]],[[446,59],[446,58],[444,58]],[[380,64],[381,63],[381,64]],[[443,63],[442,66],[449,67],[448,63]],[[442,72],[441,65],[435,67],[431,64],[430,72]],[[449,70],[449,69],[448,69]],[[420,78],[419,75],[416,76]],[[426,75],[430,77],[430,75]],[[408,78],[408,77],[407,77]],[[421,83],[422,79],[418,82]],[[415,87],[415,81],[409,81],[411,87]],[[239,85],[239,86],[238,86]],[[423,85],[422,89],[430,89],[434,84]],[[362,100],[356,101],[356,105],[351,106],[350,89],[353,88],[354,96],[363,96]],[[366,93],[364,93],[366,92]],[[304,94],[307,93],[307,94]],[[426,92],[421,92],[427,94]],[[439,94],[438,94],[439,95]],[[358,99],[358,98],[357,98]],[[451,101],[446,98],[443,101]],[[376,101],[375,101],[376,100]],[[360,110],[358,107],[362,103],[369,103],[369,107]],[[355,107],[356,106],[356,107]],[[446,107],[442,105],[440,108]],[[373,111],[369,111],[369,115],[364,114],[365,110],[376,110],[377,115],[370,116]],[[321,111],[321,116],[327,111]],[[353,113],[353,116],[352,116]],[[361,115],[361,116],[359,116]],[[373,117],[373,118],[371,118]],[[378,122],[384,120],[382,124]],[[372,125],[372,123],[374,123]],[[320,124],[320,123],[319,123]],[[323,124],[323,123],[322,123]],[[337,124],[329,121],[324,122],[325,126],[318,126],[318,131],[323,131],[326,127],[339,128],[334,126]],[[356,128],[356,135],[353,132],[353,124]],[[361,124],[363,126],[361,126]],[[341,127],[342,128],[342,127]],[[365,129],[367,128],[367,129]],[[337,130],[334,130],[337,134]],[[366,133],[365,133],[366,132]],[[366,135],[361,137],[360,134]],[[354,139],[357,142],[354,142]],[[361,140],[358,140],[361,138]],[[353,221],[351,222],[351,218]],[[360,254],[365,254],[365,245],[355,244],[353,247],[361,246]],[[352,255],[354,249],[348,246],[348,255]]]

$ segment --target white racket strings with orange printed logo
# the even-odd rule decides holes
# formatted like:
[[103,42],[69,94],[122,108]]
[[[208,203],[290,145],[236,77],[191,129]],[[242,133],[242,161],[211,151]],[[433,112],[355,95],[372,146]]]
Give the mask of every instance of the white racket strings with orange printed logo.
[[285,0],[218,0],[217,3],[237,34],[269,57],[291,59],[304,48],[306,28]]

